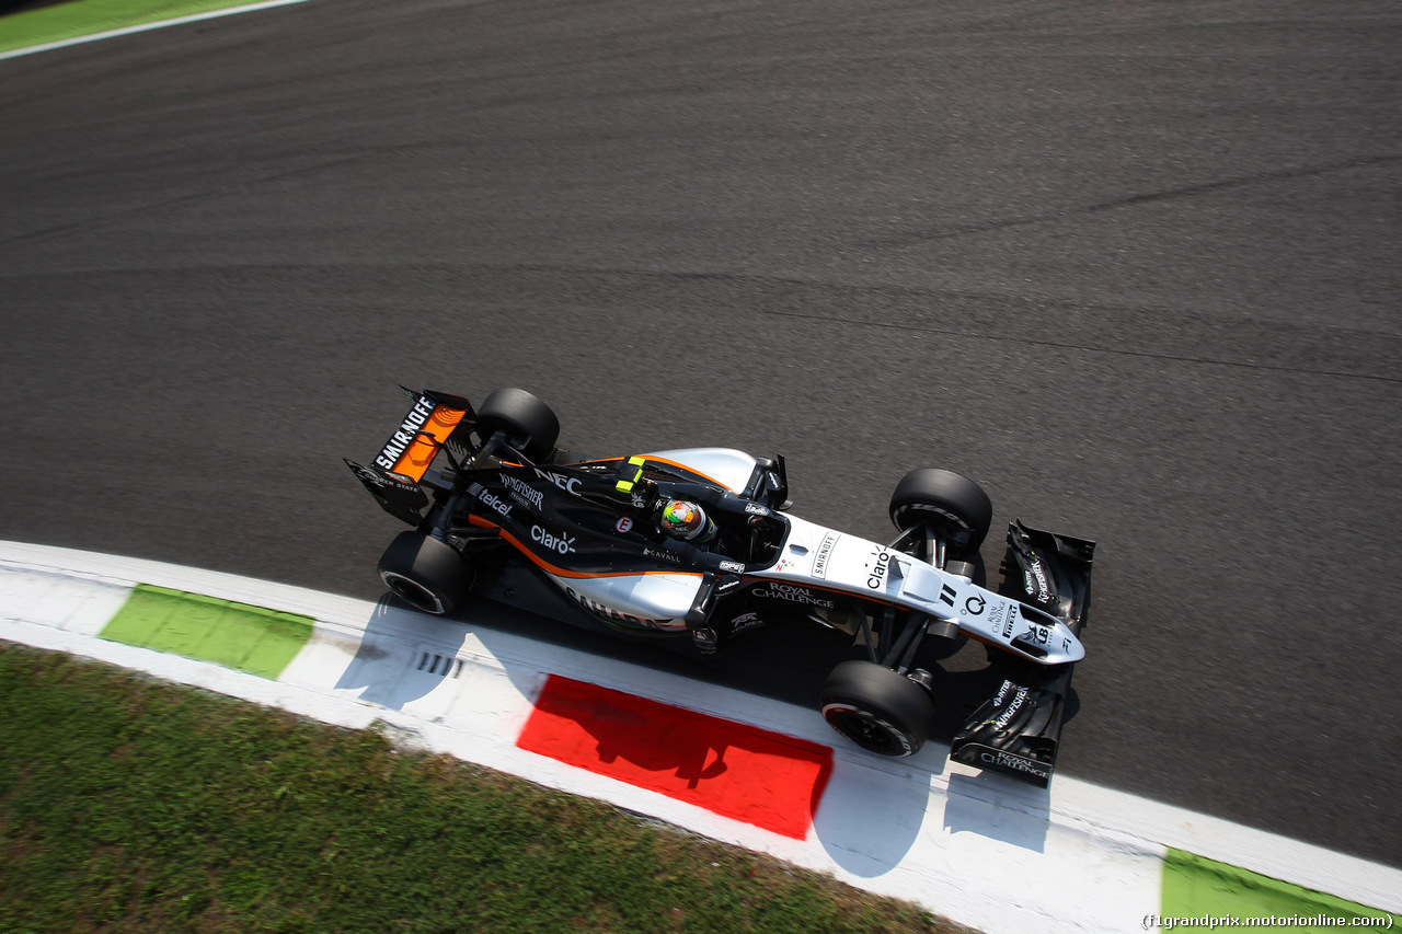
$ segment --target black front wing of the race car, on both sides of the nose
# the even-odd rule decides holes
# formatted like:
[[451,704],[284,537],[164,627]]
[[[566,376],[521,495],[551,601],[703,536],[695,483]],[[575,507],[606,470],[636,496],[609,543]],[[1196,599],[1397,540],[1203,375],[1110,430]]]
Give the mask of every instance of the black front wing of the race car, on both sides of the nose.
[[[1094,555],[1094,541],[1014,522],[1000,592],[1052,613],[1080,637],[1091,606]],[[1073,666],[1032,669],[1015,659],[994,663],[1004,669],[1002,682],[955,735],[949,756],[1046,788],[1056,767]]]

